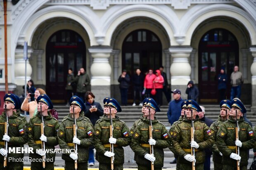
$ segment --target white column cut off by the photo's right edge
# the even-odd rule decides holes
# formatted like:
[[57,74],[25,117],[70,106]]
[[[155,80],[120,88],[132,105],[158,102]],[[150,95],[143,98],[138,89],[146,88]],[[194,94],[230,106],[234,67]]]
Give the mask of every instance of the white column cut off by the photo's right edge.
[[254,62],[251,64],[251,112],[256,112],[256,47],[250,48]]

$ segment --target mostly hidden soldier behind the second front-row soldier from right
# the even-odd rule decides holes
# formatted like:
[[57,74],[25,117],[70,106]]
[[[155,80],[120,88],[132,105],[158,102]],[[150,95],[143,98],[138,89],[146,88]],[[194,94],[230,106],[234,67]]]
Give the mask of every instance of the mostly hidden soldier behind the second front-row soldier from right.
[[[180,107],[181,107],[181,112],[180,112],[180,118],[178,119],[178,121],[175,121],[175,122],[173,122],[173,124],[172,124],[172,126],[171,126],[171,128],[170,128],[170,130],[169,130],[169,133],[171,134],[172,132],[173,132],[173,129],[175,128],[175,126],[176,126],[176,124],[177,123],[179,123],[179,122],[181,122],[181,121],[183,121],[183,117],[185,116],[185,112],[186,112],[186,110],[187,110],[187,100],[184,100],[182,103],[181,103],[181,105],[180,105]],[[172,134],[171,134],[172,135]],[[173,154],[174,154],[174,158],[175,158],[175,162],[177,161],[177,158],[178,158],[178,154],[175,152],[175,149],[173,148],[173,145],[171,145],[170,147],[169,147],[169,149],[173,152]],[[170,163],[172,163],[172,162],[170,162]],[[179,164],[177,164],[176,165],[176,168],[177,169],[179,169],[178,168],[178,165]]]

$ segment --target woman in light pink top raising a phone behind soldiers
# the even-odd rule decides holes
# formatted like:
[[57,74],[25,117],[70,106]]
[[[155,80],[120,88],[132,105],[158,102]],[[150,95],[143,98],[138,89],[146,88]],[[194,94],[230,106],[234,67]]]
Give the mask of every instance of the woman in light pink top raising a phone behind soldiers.
[[[35,93],[27,93],[26,98],[21,104],[21,110],[29,112],[29,117],[35,116],[37,113],[37,98],[42,95],[46,94],[46,92],[42,88],[37,88]],[[33,97],[33,99],[32,99]],[[30,100],[30,101],[29,101]]]

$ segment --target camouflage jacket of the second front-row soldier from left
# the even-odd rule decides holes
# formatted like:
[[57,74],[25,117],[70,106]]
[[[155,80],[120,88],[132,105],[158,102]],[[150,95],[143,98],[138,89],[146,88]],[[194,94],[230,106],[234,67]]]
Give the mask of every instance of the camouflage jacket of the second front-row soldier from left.
[[[52,117],[50,112],[44,117],[44,135],[47,137],[47,142],[45,142],[45,149],[55,149],[58,144],[57,131],[59,129],[59,122],[57,119]],[[36,149],[42,149],[41,146],[41,122],[42,118],[40,112],[37,112],[36,116],[31,117],[28,122],[27,132],[28,132],[28,146],[33,147],[34,154],[29,154],[32,158],[42,158],[42,156],[36,154]],[[55,153],[46,154],[46,158],[53,158],[55,160]]]

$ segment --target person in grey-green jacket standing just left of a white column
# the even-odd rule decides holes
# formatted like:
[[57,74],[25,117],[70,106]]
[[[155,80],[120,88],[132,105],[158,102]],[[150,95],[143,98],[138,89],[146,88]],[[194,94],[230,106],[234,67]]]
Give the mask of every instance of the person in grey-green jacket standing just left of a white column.
[[77,88],[76,95],[84,102],[85,92],[88,91],[88,85],[90,85],[90,78],[86,74],[84,68],[80,68],[76,76]]

